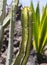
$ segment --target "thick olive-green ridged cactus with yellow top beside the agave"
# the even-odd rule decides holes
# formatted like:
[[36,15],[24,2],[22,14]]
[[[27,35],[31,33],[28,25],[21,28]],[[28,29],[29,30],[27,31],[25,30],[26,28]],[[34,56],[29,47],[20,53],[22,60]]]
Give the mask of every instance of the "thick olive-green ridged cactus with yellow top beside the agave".
[[22,22],[22,43],[21,43],[21,49],[18,57],[15,60],[14,65],[26,65],[30,48],[31,48],[31,39],[32,39],[32,33],[31,33],[31,25],[32,25],[32,19],[31,19],[31,10],[28,7],[24,7],[21,14],[21,22]]

